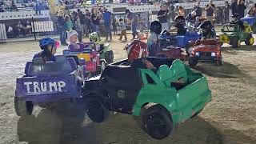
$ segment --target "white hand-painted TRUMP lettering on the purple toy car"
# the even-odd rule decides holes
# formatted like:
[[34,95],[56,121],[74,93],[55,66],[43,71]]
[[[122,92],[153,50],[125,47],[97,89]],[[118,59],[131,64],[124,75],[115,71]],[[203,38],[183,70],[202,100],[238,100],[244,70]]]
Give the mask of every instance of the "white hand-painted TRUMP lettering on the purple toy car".
[[59,91],[62,92],[62,89],[66,86],[66,82],[24,82],[27,93],[40,93],[46,91]]

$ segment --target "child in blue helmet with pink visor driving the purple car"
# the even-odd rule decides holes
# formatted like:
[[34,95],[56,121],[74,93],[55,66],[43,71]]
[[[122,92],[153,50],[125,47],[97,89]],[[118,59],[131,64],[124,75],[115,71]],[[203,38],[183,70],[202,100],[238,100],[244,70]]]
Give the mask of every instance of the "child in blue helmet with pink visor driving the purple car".
[[54,54],[56,53],[58,42],[54,41],[53,38],[42,38],[39,41],[39,46],[42,51],[34,54],[34,58],[42,58],[45,62],[55,61]]

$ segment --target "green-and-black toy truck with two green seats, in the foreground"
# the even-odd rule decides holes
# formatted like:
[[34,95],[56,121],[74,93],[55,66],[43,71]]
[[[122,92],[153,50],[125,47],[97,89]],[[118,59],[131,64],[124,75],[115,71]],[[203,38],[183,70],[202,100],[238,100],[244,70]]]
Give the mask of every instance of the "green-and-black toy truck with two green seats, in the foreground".
[[211,101],[206,77],[172,58],[114,62],[83,87],[86,113],[103,122],[109,111],[141,117],[142,129],[152,138],[166,138],[174,126],[199,114]]

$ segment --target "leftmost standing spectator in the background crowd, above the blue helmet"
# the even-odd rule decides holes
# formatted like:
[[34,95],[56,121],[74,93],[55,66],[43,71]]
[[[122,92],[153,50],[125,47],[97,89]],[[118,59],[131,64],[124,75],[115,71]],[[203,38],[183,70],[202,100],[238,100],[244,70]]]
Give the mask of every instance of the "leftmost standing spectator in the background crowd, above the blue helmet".
[[58,11],[57,14],[57,25],[58,25],[58,31],[60,33],[60,41],[63,46],[67,46],[66,43],[66,26],[65,26],[65,19],[64,19],[64,13],[62,10]]

